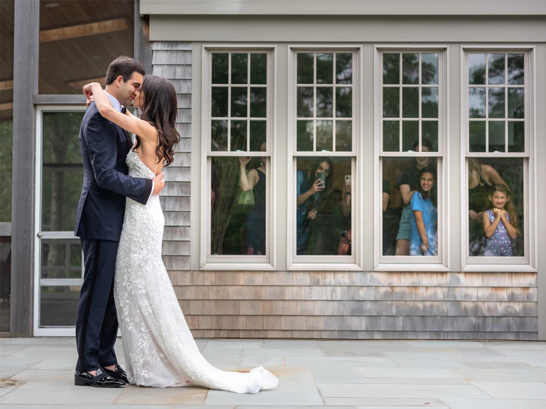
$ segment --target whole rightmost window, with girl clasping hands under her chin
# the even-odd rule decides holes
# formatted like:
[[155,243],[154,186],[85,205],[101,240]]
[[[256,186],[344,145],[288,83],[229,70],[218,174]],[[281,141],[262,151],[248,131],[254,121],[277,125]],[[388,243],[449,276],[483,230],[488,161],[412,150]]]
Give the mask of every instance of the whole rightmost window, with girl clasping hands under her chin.
[[514,264],[529,268],[532,51],[465,48],[462,266],[495,271],[501,266],[513,270]]

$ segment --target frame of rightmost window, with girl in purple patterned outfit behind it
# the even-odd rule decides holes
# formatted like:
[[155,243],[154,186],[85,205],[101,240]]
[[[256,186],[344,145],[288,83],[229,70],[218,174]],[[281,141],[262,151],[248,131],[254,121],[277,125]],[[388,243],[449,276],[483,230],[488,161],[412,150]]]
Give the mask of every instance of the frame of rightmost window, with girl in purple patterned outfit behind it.
[[[536,61],[531,45],[461,45],[461,271],[537,272],[537,170],[536,170]],[[524,152],[470,152],[468,149],[468,52],[524,53],[525,150]],[[486,67],[488,62],[485,62]],[[507,67],[505,67],[507,75]],[[487,93],[486,93],[487,94]],[[508,101],[505,101],[507,104]],[[488,106],[485,107],[489,109]],[[486,127],[487,129],[487,127]],[[506,135],[508,137],[508,135]],[[468,255],[468,170],[467,158],[523,158],[524,160],[524,257],[483,257]],[[527,161],[525,161],[527,159]]]

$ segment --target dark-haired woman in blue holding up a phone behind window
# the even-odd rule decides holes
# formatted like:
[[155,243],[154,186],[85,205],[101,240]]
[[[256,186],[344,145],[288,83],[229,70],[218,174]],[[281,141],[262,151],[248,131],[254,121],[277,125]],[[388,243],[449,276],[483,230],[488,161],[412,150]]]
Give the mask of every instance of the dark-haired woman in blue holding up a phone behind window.
[[334,164],[317,158],[311,169],[296,173],[296,254],[305,255],[311,235],[311,221],[317,218],[322,197],[333,190]]

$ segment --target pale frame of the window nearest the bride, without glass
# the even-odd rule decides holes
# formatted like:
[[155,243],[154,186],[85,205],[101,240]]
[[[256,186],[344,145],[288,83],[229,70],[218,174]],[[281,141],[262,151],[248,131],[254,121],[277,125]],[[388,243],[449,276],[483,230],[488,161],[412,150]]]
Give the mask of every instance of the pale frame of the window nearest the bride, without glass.
[[[210,186],[211,186],[211,157],[236,157],[235,152],[212,152],[210,121],[211,121],[211,56],[213,52],[220,53],[248,53],[262,52],[268,55],[268,144],[265,152],[246,152],[249,156],[269,157],[266,163],[266,191],[269,195],[266,203],[266,255],[211,255],[210,239]],[[250,61],[250,59],[249,59]],[[275,155],[276,151],[276,104],[277,104],[277,46],[260,44],[217,45],[203,44],[201,46],[201,234],[200,234],[200,268],[203,270],[274,270],[276,260],[276,179]],[[230,104],[228,100],[228,104]],[[207,189],[209,187],[209,189]]]

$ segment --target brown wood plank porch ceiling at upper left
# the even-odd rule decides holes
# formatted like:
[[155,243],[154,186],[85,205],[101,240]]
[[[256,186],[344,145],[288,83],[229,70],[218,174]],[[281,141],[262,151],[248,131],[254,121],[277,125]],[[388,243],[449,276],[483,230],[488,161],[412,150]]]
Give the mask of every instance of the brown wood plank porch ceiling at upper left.
[[[79,94],[71,83],[104,77],[113,59],[132,56],[133,18],[133,0],[40,0],[39,93]],[[14,0],[0,0],[0,104],[13,101],[13,22]],[[0,110],[0,120],[11,116]]]

